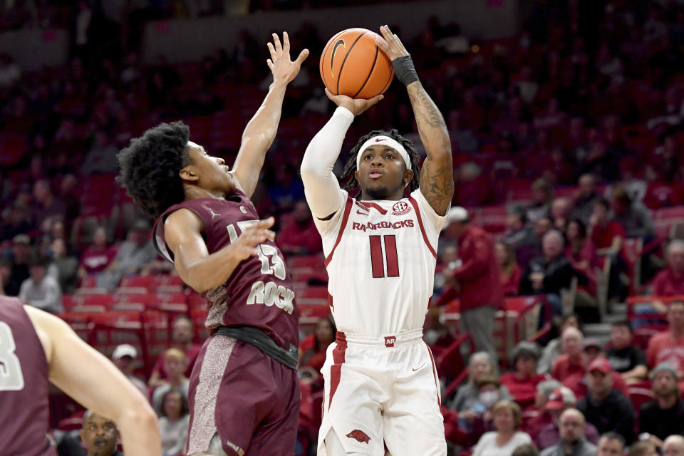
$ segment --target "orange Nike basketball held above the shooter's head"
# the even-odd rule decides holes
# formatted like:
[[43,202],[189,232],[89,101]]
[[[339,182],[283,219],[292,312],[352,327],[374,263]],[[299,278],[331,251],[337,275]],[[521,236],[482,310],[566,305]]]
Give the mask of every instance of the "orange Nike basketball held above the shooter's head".
[[348,28],[330,38],[321,55],[321,78],[333,95],[373,98],[394,78],[390,58],[375,44],[377,33]]

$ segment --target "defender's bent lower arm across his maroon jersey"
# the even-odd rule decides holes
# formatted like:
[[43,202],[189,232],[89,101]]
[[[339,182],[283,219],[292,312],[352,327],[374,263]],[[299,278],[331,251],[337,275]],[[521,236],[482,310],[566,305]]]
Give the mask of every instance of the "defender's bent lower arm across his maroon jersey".
[[202,237],[202,221],[192,211],[179,209],[164,222],[166,244],[173,252],[175,269],[183,281],[198,293],[224,284],[238,264],[257,255],[257,245],[275,239],[269,217],[245,228],[236,242],[209,254]]

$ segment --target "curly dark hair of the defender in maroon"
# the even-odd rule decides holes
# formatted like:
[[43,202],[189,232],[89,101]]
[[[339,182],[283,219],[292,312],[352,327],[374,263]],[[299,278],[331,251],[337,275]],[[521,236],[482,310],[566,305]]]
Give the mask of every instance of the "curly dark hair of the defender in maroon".
[[130,140],[130,145],[119,152],[116,181],[147,217],[156,219],[185,199],[178,172],[192,164],[187,150],[189,139],[190,129],[185,123],[162,123]]

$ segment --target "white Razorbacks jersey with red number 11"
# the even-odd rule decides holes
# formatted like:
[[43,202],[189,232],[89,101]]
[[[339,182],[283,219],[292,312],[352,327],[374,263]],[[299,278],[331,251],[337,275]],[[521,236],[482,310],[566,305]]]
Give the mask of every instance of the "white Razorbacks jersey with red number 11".
[[398,201],[341,192],[346,204],[331,219],[314,217],[338,331],[382,336],[423,328],[446,216],[420,190]]

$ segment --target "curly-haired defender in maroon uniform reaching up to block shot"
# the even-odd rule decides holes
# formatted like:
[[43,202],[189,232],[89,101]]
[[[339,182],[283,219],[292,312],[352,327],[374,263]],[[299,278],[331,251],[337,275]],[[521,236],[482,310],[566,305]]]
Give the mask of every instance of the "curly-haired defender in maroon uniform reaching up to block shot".
[[[119,154],[120,182],[157,219],[159,252],[204,294],[211,336],[190,375],[187,454],[294,453],[299,415],[298,313],[272,218],[249,197],[273,142],[287,84],[309,51],[290,60],[273,34],[274,81],[249,121],[232,170],[189,141],[183,123],[162,124]],[[229,125],[227,125],[229,127]]]

